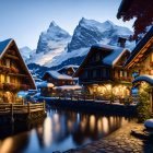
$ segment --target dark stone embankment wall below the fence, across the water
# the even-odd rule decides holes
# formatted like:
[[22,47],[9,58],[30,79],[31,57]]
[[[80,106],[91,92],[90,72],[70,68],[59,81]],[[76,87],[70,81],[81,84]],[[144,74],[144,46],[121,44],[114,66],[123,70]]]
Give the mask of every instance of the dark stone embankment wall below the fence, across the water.
[[78,101],[78,99],[59,99],[55,97],[40,97],[38,101],[46,101],[46,104],[55,106],[57,108],[62,108],[66,110],[84,111],[101,115],[115,115],[115,116],[126,116],[126,117],[137,117],[137,105],[131,104],[126,106],[120,103],[103,102],[103,101]]

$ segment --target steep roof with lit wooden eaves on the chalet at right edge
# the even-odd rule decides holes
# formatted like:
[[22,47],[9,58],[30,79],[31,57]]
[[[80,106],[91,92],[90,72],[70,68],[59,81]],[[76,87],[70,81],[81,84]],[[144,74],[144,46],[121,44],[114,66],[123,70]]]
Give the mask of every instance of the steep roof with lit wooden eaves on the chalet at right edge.
[[153,44],[153,26],[134,47],[130,57],[126,61],[125,67],[129,67],[131,61],[133,61],[140,54],[144,54],[152,44]]

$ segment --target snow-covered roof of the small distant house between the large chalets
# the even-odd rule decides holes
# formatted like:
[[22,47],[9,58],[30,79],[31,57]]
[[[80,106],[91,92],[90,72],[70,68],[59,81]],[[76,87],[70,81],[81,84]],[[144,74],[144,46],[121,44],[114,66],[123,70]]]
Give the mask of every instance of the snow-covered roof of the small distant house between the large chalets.
[[51,75],[54,79],[58,79],[58,80],[78,80],[78,79],[73,79],[70,75],[67,74],[61,74],[58,71],[47,71],[46,73],[48,73],[49,75]]

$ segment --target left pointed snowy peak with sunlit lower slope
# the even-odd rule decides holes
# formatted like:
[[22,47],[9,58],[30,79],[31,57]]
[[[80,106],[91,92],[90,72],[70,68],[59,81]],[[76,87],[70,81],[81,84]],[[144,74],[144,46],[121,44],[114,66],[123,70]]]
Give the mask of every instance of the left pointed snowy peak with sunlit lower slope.
[[26,62],[50,67],[50,62],[55,60],[55,57],[64,51],[70,40],[71,36],[69,33],[52,21],[49,28],[40,34],[36,54],[31,56]]

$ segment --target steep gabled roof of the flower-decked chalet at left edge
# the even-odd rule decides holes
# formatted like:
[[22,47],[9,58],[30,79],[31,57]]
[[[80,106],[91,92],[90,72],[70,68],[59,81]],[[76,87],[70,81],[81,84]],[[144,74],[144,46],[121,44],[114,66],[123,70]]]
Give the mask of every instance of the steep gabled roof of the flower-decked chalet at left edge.
[[0,60],[3,58],[3,56],[5,55],[7,50],[9,49],[9,47],[11,46],[14,46],[15,47],[15,50],[17,51],[17,55],[20,57],[20,62],[22,63],[22,66],[24,67],[25,71],[27,72],[28,76],[31,78],[31,84],[32,84],[32,89],[36,89],[36,85],[35,85],[35,82],[33,80],[33,76],[31,74],[31,72],[28,71],[28,68],[26,66],[26,63],[24,62],[21,54],[20,54],[20,50],[14,42],[14,39],[12,38],[9,38],[9,39],[5,39],[3,42],[0,42]]

